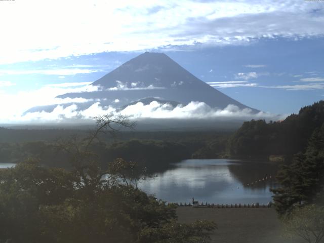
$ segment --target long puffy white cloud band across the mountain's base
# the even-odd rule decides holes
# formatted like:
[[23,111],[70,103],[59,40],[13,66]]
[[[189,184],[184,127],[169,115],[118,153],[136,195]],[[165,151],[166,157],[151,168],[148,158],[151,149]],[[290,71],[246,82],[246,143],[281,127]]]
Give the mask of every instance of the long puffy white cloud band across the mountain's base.
[[285,118],[286,115],[276,115],[271,113],[259,112],[253,113],[251,109],[239,109],[235,105],[228,105],[224,109],[211,108],[204,102],[192,101],[189,104],[183,106],[178,105],[173,107],[170,104],[160,104],[156,101],[150,104],[144,105],[142,102],[138,102],[134,105],[127,106],[122,111],[117,111],[111,106],[102,107],[100,102],[96,102],[85,110],[79,110],[76,104],[72,104],[66,108],[62,105],[57,105],[52,112],[32,112],[25,116],[16,117],[20,122],[33,121],[37,122],[60,122],[69,119],[77,119],[78,122],[92,119],[94,116],[103,114],[123,114],[128,115],[130,119],[141,120],[146,118],[153,119],[273,119],[279,120]]

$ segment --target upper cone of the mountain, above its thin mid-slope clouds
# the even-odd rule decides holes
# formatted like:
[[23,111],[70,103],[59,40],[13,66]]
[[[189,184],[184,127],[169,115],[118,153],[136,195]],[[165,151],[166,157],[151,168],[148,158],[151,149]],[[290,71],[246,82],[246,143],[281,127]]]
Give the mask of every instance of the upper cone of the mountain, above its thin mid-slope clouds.
[[145,52],[98,79],[92,85],[113,88],[192,89],[205,84],[163,53]]

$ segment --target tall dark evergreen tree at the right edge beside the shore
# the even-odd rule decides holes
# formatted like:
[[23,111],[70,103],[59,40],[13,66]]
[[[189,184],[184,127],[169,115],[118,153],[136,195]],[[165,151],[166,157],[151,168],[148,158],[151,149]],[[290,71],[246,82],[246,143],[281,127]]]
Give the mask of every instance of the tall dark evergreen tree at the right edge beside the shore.
[[324,125],[315,129],[305,153],[294,156],[290,165],[277,174],[279,188],[272,189],[275,208],[280,215],[290,213],[295,205],[320,201],[324,177]]

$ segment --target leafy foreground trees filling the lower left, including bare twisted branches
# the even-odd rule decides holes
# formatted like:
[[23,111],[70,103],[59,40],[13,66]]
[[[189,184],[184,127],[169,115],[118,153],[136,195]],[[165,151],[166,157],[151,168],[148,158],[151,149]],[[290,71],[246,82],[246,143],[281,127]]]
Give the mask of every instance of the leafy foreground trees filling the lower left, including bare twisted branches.
[[[207,242],[214,223],[176,223],[175,206],[119,183],[100,167],[90,149],[98,134],[115,130],[113,124],[130,126],[125,117],[97,121],[98,130],[88,139],[57,141],[57,148],[70,154],[71,170],[35,160],[0,170],[0,242],[181,242],[180,237]],[[134,165],[124,161],[121,169],[134,178],[127,172]]]

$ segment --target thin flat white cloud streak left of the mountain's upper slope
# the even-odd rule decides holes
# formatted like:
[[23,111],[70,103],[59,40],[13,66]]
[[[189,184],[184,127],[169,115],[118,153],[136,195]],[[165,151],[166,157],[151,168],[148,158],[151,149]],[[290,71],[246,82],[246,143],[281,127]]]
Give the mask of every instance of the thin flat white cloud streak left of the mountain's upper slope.
[[45,75],[75,75],[80,73],[102,72],[100,69],[81,69],[81,68],[63,68],[63,69],[43,69],[43,70],[0,70],[0,75],[22,75],[22,74],[45,74]]

